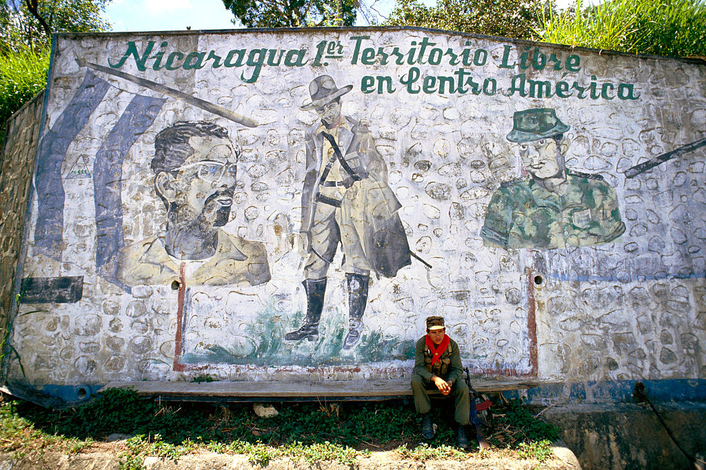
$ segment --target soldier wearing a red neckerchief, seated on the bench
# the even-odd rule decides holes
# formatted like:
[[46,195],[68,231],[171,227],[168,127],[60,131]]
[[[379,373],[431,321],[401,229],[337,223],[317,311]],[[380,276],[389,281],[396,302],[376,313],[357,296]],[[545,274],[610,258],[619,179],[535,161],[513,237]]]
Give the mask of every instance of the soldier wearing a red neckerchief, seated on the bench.
[[434,437],[431,423],[431,402],[426,390],[436,387],[443,395],[453,395],[454,420],[458,423],[457,445],[468,447],[466,426],[470,417],[468,385],[462,379],[463,366],[458,344],[446,335],[443,317],[426,318],[426,335],[417,341],[414,351],[414,375],[412,393],[414,407],[421,414],[421,435],[425,439]]

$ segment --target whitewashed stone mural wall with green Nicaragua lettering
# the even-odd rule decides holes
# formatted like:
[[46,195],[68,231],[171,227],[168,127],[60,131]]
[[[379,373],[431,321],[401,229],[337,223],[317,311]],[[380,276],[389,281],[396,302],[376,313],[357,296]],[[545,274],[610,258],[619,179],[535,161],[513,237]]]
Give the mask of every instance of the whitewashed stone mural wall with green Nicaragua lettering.
[[59,36],[10,377],[402,378],[443,315],[478,373],[704,379],[705,90],[424,30]]

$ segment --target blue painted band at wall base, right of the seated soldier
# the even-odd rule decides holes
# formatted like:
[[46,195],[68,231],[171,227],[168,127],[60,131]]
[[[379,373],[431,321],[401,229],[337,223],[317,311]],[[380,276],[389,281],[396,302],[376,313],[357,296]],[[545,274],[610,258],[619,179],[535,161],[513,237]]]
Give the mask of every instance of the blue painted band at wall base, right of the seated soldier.
[[706,379],[559,382],[503,392],[503,396],[530,404],[635,403],[637,382],[645,385],[647,397],[655,402],[706,402]]

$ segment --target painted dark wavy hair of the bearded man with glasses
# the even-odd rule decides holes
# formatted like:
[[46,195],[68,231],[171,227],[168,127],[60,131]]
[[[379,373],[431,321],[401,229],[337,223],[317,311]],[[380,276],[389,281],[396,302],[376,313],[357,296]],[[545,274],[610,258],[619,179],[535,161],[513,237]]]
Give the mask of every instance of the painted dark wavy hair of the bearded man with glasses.
[[179,169],[186,159],[193,154],[189,139],[192,137],[208,137],[209,135],[228,138],[228,131],[208,121],[179,121],[170,127],[162,129],[155,137],[155,157],[152,158],[150,168],[155,174],[160,171]]

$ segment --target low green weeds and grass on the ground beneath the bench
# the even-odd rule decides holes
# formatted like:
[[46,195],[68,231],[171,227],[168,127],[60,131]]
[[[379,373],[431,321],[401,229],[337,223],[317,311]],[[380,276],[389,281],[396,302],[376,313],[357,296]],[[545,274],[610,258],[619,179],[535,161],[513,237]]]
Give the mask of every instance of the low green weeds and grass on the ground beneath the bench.
[[343,402],[340,404],[281,404],[280,414],[259,418],[249,404],[179,403],[164,406],[141,399],[131,390],[112,389],[73,409],[52,411],[4,398],[0,405],[0,452],[16,457],[59,450],[67,454],[106,446],[112,433],[131,435],[112,445],[120,468],[143,469],[145,457],[177,460],[192,452],[244,454],[266,466],[279,457],[313,465],[322,460],[352,466],[372,450],[387,450],[401,459],[532,458],[543,462],[558,429],[534,418],[517,402],[495,405],[496,432],[489,435],[493,450],[480,451],[472,440],[468,454],[455,447],[447,421],[450,409],[437,406],[436,438],[420,443],[421,419],[409,402]]

